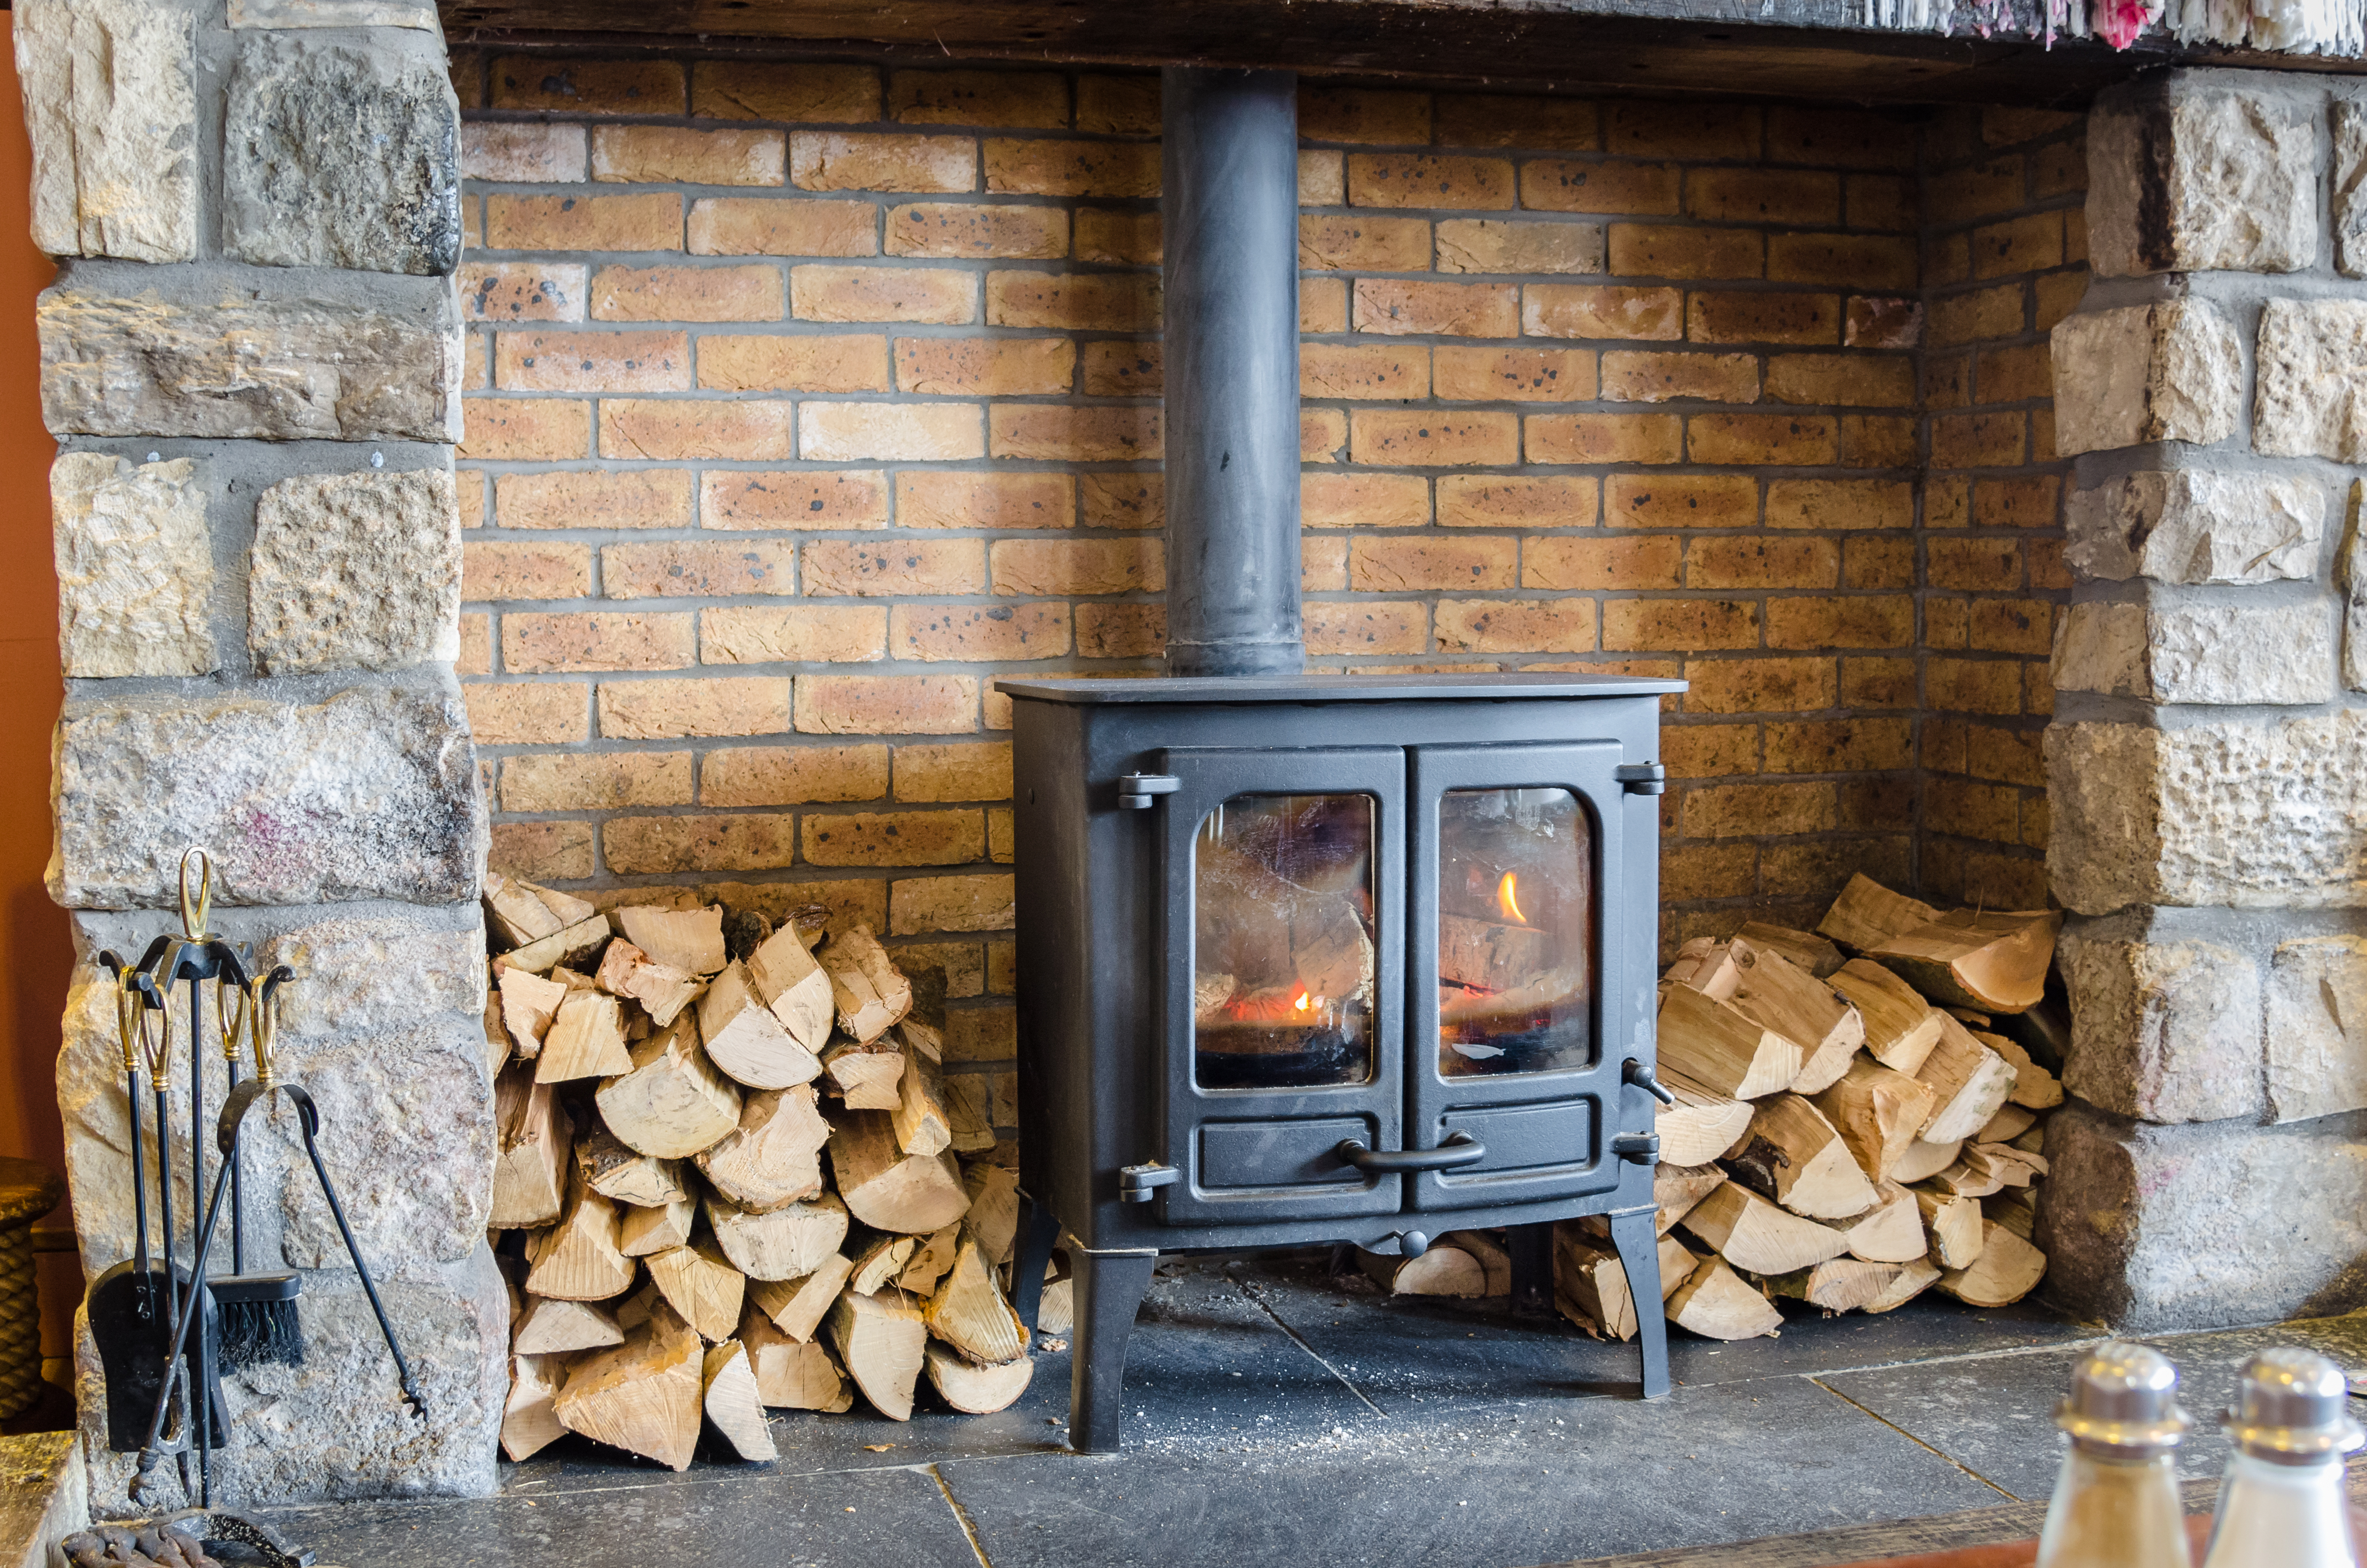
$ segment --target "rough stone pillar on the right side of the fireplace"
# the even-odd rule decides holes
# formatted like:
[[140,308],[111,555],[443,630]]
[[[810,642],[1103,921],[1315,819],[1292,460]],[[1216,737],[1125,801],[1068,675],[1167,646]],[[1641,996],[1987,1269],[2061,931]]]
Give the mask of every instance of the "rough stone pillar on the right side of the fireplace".
[[[2171,71],[2088,133],[2055,327],[2078,580],[2047,874],[2047,1289],[2126,1329],[2367,1300],[2367,92]],[[2350,561],[2346,568],[2343,564]]]

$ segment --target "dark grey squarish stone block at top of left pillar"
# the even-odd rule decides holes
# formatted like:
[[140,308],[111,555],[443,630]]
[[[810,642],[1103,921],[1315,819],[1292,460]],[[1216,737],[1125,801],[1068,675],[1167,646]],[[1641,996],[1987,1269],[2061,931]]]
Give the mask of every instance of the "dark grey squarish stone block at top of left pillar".
[[459,265],[459,99],[433,40],[239,40],[222,109],[222,251],[272,268]]

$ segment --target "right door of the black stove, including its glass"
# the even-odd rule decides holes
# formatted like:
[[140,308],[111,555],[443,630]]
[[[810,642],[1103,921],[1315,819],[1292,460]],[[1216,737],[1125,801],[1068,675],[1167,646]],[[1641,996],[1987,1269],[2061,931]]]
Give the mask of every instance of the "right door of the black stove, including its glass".
[[1619,1184],[1612,921],[1619,741],[1415,746],[1408,869],[1406,1146],[1486,1156],[1413,1177],[1413,1208],[1524,1203]]

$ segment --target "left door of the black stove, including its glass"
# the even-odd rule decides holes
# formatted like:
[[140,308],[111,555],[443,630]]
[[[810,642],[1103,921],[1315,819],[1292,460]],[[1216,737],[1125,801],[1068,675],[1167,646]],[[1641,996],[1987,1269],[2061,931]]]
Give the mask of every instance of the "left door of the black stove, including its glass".
[[1401,1177],[1340,1161],[1399,1146],[1406,753],[1169,748],[1165,1161],[1174,1225],[1394,1213]]

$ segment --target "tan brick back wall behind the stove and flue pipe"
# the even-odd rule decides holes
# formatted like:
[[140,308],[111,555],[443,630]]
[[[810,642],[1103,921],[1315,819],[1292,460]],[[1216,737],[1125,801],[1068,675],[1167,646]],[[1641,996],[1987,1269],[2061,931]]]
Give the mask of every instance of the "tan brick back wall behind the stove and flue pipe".
[[[454,76],[495,862],[826,898],[944,957],[992,1049],[989,685],[1155,670],[1165,632],[1155,78]],[[1692,680],[1669,943],[1913,881],[1920,682],[2045,654],[2043,623],[1988,647],[2002,580],[1924,576],[1920,185],[1950,175],[1917,168],[1922,118],[1302,88],[1311,666]],[[1917,597],[1962,590],[1974,651],[1920,632]],[[2036,739],[2019,699],[1946,706]],[[1950,874],[1976,786],[1924,803]]]

